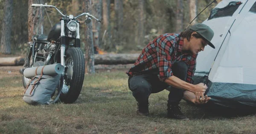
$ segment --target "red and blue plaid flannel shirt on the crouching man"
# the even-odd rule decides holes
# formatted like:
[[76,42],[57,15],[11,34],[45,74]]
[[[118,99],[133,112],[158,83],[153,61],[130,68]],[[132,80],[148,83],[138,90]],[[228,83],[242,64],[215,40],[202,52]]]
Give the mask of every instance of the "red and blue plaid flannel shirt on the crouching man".
[[137,61],[126,74],[133,76],[157,69],[159,80],[165,81],[173,75],[172,64],[184,61],[188,66],[186,82],[192,84],[198,54],[183,52],[182,46],[183,37],[180,37],[180,34],[162,34],[143,48]]

